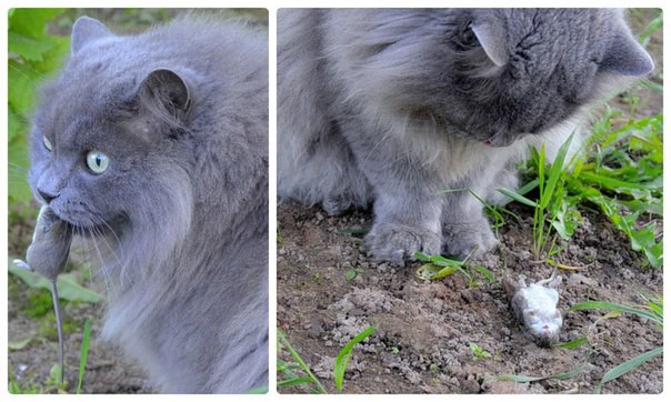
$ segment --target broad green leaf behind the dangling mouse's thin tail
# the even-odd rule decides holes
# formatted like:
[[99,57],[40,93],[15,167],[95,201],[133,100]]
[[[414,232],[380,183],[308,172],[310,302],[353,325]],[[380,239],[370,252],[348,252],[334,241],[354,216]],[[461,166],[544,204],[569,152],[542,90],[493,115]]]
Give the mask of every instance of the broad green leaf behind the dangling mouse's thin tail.
[[[49,280],[39,273],[28,271],[21,267],[17,267],[12,261],[9,262],[9,273],[19,278],[29,288],[49,290]],[[78,301],[86,303],[98,303],[104,300],[104,297],[96,291],[83,288],[77,283],[77,279],[72,273],[62,273],[56,281],[59,299],[68,301]]]

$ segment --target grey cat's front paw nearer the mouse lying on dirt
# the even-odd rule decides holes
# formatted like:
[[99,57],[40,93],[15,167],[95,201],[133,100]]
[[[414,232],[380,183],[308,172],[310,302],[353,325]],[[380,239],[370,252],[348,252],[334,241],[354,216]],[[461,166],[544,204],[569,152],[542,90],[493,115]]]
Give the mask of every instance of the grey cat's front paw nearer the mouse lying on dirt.
[[489,222],[459,222],[443,227],[443,252],[461,259],[480,257],[492,250],[499,240],[489,227]]

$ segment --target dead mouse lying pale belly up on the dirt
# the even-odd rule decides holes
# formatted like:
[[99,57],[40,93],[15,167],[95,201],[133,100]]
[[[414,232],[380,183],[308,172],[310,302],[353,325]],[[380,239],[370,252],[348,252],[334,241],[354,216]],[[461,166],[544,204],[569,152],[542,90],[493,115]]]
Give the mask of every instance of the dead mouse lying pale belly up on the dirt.
[[550,348],[559,341],[559,331],[563,323],[561,312],[557,308],[557,288],[560,283],[561,277],[554,273],[549,279],[529,285],[523,278],[518,282],[503,282],[518,321],[527,328],[535,344],[542,348]]

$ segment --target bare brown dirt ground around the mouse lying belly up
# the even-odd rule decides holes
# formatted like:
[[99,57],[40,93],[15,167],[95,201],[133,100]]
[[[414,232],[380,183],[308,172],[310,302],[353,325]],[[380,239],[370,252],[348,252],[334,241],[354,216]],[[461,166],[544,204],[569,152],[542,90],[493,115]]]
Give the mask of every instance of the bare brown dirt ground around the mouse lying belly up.
[[[652,38],[649,49],[657,77],[662,69],[661,36]],[[641,99],[638,114],[661,113],[661,93],[639,87],[629,94]],[[624,98],[611,104],[628,110]],[[568,311],[590,300],[634,305],[641,303],[641,291],[663,294],[662,270],[645,267],[622,233],[589,212],[583,212],[582,227],[562,244],[565,251],[559,258],[567,265],[585,267],[561,272],[560,342],[580,336],[589,341],[572,350],[542,349],[527,338],[501,281],[520,274],[544,279],[552,268],[532,262],[532,210],[510,208],[522,221],[509,220],[499,230],[499,249],[480,261],[495,280],[487,283],[481,277],[473,285],[460,273],[420,280],[415,277],[420,262],[405,268],[375,262],[360,234],[372,224],[370,211],[328,217],[320,208],[279,205],[278,328],[327,391],[336,392],[334,358],[354,335],[374,325],[374,334],[354,348],[345,393],[592,393],[608,370],[662,344],[662,331],[635,315],[601,320],[604,311]],[[471,343],[490,356],[477,359]],[[287,350],[280,358],[291,361]],[[662,358],[654,358],[607,383],[602,392],[661,393],[662,365]],[[497,380],[498,375],[547,376],[573,370],[581,372],[562,381]]]

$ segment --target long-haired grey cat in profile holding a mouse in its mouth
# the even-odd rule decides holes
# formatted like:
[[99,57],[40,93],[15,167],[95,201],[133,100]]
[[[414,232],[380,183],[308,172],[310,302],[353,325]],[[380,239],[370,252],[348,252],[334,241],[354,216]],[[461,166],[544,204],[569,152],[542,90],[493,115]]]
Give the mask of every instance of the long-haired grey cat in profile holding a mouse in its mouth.
[[186,17],[81,18],[41,93],[29,182],[100,262],[102,330],[172,393],[268,383],[268,41]]

